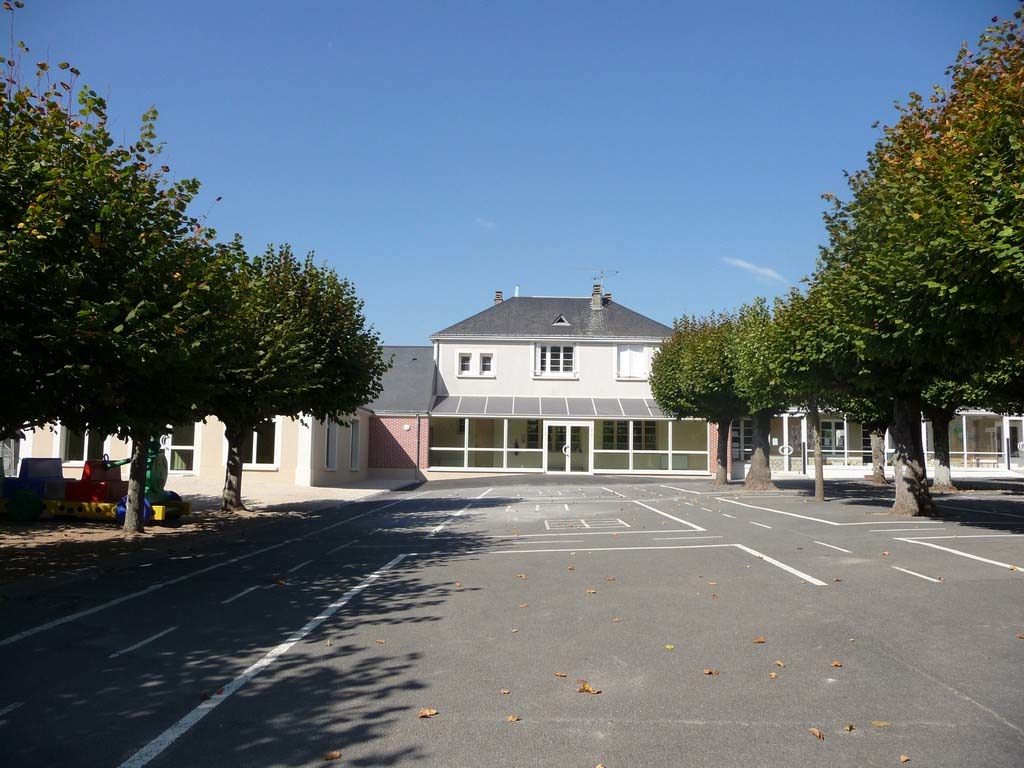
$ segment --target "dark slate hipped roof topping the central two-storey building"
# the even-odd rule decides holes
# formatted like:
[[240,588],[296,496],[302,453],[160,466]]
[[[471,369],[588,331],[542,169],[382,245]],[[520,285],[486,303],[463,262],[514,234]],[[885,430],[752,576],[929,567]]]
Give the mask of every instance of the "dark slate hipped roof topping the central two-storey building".
[[[672,335],[672,329],[629,307],[605,301],[601,309],[591,309],[590,297],[549,298],[514,296],[487,307],[430,338],[510,336],[526,338],[594,337],[657,339]],[[553,326],[558,315],[568,325]]]

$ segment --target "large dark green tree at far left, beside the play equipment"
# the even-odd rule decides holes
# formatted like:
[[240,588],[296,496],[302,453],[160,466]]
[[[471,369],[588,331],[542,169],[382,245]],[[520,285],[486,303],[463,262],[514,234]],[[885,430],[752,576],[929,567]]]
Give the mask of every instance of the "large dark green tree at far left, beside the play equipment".
[[170,180],[155,111],[121,144],[74,68],[39,62],[36,88],[18,61],[5,66],[0,349],[14,388],[0,398],[3,430],[59,420],[131,440],[134,532],[147,443],[193,412],[204,386],[231,249],[188,216],[199,183]]

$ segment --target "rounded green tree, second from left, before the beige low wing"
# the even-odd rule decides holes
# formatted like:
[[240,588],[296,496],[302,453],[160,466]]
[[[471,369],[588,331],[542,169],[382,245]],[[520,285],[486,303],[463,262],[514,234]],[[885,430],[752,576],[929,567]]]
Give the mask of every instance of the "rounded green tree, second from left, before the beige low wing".
[[242,449],[275,416],[345,423],[380,392],[380,340],[351,283],[288,246],[246,261],[218,317],[215,381],[203,401],[224,424],[222,507],[243,509]]

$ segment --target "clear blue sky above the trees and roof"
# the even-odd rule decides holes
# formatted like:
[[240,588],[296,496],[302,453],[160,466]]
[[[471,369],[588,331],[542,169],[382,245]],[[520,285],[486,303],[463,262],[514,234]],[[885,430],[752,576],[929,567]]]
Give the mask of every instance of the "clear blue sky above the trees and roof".
[[161,114],[197,211],[352,280],[385,343],[594,272],[669,323],[786,290],[876,120],[1014,0],[29,0],[130,138]]

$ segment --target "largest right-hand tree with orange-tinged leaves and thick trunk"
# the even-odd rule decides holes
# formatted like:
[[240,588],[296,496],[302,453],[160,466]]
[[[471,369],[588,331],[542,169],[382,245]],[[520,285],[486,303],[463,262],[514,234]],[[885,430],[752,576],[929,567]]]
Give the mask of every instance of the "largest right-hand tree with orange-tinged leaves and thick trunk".
[[[1021,10],[964,50],[949,85],[911,94],[851,196],[833,198],[815,282],[837,342],[893,395],[894,511],[933,509],[922,395],[1008,350],[1024,306],[1024,36]],[[870,393],[867,393],[870,396]]]

